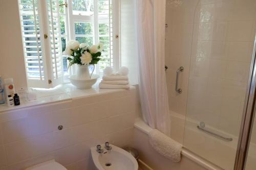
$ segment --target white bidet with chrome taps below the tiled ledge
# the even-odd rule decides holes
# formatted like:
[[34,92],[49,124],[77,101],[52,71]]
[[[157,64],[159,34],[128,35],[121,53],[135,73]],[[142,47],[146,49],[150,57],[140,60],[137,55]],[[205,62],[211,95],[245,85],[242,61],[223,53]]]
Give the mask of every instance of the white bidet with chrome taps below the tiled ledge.
[[138,170],[138,162],[128,152],[111,145],[112,150],[104,150],[102,154],[91,148],[92,159],[97,170]]

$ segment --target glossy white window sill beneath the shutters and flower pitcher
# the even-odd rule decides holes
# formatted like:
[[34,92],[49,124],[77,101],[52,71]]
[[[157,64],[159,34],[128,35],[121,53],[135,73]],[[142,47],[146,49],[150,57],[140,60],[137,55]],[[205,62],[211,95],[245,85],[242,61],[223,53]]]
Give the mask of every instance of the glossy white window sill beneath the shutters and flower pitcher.
[[[134,89],[131,86],[130,89]],[[89,97],[93,95],[100,95],[106,93],[113,93],[117,91],[123,91],[125,89],[99,89],[98,85],[94,85],[90,89],[77,89],[72,84],[59,85],[53,89],[35,89],[37,94],[37,100],[28,102],[26,99],[20,99],[20,105],[14,107],[8,107],[7,104],[0,104],[0,112],[11,111],[16,109],[27,108],[31,106],[37,106],[42,104],[49,104],[59,101],[68,101],[75,98]]]

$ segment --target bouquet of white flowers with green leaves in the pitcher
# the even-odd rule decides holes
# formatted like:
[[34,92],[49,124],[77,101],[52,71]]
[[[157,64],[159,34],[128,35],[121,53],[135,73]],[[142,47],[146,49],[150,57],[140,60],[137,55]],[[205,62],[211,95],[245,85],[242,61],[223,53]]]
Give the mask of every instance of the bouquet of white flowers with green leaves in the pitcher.
[[67,43],[65,52],[63,54],[69,55],[69,67],[73,64],[88,65],[97,64],[100,60],[101,52],[103,51],[103,44],[88,46],[86,43],[79,43],[71,40]]

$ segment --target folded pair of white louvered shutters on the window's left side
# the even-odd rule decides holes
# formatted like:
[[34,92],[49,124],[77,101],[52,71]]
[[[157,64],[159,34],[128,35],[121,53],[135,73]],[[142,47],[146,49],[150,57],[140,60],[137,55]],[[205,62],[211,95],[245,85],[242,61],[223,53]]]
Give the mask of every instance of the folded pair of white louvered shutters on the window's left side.
[[58,1],[18,2],[28,86],[54,87],[63,74]]

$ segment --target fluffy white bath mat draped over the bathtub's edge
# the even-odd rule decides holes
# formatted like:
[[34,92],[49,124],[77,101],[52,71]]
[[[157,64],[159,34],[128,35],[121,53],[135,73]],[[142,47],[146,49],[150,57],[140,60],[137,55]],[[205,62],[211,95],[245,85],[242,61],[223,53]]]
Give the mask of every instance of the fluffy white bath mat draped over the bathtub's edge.
[[148,134],[152,147],[164,157],[179,162],[181,159],[182,145],[157,129],[153,129]]

